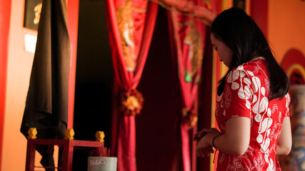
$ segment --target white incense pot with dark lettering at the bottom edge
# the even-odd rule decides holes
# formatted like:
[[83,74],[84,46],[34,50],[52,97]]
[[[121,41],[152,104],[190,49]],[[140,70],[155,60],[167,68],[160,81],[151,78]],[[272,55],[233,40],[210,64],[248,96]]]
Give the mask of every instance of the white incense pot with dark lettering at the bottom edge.
[[88,157],[88,171],[116,171],[117,157]]

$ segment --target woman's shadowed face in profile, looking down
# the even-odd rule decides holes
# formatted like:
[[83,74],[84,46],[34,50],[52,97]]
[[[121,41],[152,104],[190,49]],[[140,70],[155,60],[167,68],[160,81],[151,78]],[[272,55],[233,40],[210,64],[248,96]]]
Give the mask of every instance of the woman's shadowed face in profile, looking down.
[[226,67],[230,67],[233,51],[226,46],[226,43],[215,38],[214,33],[211,33],[211,43],[215,51],[218,53],[219,61],[222,61]]

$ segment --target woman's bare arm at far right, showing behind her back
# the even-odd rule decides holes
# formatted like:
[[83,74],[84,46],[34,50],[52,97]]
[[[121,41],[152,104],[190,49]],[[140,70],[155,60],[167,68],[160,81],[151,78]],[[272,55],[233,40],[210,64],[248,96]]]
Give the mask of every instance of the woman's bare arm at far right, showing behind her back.
[[290,118],[285,117],[283,124],[281,125],[281,134],[279,135],[279,141],[277,142],[276,155],[288,155],[291,150],[291,145]]

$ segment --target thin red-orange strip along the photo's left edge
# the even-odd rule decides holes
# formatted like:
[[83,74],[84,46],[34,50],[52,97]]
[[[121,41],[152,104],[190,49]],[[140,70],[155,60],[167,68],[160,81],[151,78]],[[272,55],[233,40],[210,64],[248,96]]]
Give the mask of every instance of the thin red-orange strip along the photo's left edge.
[[0,1],[0,169],[4,133],[4,112],[6,98],[6,73],[9,47],[9,21],[11,0]]

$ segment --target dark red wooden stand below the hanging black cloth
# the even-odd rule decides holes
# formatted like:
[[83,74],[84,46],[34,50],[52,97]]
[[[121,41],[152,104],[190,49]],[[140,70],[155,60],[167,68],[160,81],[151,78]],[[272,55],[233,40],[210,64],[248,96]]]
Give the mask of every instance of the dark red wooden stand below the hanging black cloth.
[[58,145],[59,161],[61,161],[61,159],[63,161],[62,165],[58,165],[58,170],[71,171],[74,147],[99,148],[104,147],[104,142],[87,140],[28,139],[26,149],[26,171],[34,170],[36,145]]

